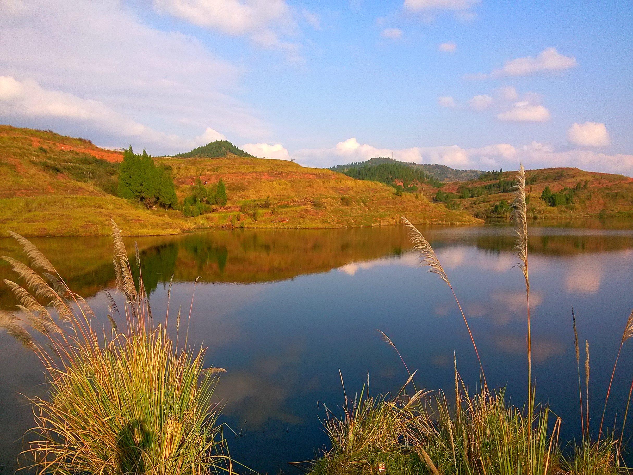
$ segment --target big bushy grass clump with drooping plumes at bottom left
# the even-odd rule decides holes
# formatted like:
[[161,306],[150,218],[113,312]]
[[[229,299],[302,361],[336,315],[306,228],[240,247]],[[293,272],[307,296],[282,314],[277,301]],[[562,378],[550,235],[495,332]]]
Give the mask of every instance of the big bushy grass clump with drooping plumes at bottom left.
[[231,473],[211,402],[223,370],[203,367],[203,348],[173,344],[168,314],[155,322],[114,222],[116,288],[125,303],[120,310],[105,291],[108,329],[33,244],[12,235],[31,265],[4,257],[24,285],[4,281],[20,312],[3,312],[0,326],[35,352],[47,379],[46,397],[32,400],[27,467],[40,474]]

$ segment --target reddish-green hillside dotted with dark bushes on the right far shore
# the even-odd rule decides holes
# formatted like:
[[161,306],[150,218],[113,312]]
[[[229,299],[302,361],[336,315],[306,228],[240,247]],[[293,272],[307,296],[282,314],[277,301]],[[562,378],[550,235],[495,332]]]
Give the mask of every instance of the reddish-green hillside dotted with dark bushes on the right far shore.
[[[515,172],[486,172],[479,179],[423,187],[432,201],[482,219],[510,218]],[[561,220],[633,217],[633,179],[585,172],[579,168],[543,168],[526,172],[531,219]],[[548,188],[549,194],[544,190]]]

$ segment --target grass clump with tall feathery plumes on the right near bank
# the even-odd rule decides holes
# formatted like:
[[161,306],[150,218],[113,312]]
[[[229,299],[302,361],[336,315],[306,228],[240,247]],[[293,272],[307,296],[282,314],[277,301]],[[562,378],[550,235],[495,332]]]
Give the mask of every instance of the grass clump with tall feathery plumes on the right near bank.
[[[468,475],[610,475],[624,474],[620,466],[622,441],[611,432],[592,440],[589,430],[589,341],[586,341],[585,395],[580,379],[580,348],[573,314],[575,357],[577,362],[580,426],[582,439],[569,450],[561,450],[559,434],[562,421],[549,407],[537,404],[532,374],[532,321],[530,315],[530,276],[527,206],[525,196],[525,170],[521,165],[516,181],[513,201],[518,267],[525,284],[527,310],[527,402],[523,407],[510,404],[503,388],[491,390],[486,383],[484,367],[475,344],[473,333],[460,301],[442,268],[436,253],[422,233],[403,219],[408,228],[413,248],[418,252],[421,265],[437,274],[448,284],[472,341],[480,366],[482,386],[477,393],[469,394],[457,371],[455,360],[455,399],[451,402],[442,391],[418,391],[413,382],[415,371],[398,395],[368,395],[360,402],[354,399],[351,407],[346,398],[342,415],[337,417],[327,410],[325,429],[332,448],[322,454],[313,465],[315,475],[365,474],[468,474]],[[382,332],[381,332],[382,333]],[[383,339],[396,352],[396,346],[384,333]],[[627,321],[620,350],[633,336],[633,314]],[[400,353],[398,352],[398,355]],[[616,358],[616,364],[619,358]],[[400,357],[402,359],[402,357]],[[611,376],[611,383],[613,375]],[[413,396],[408,396],[411,383]],[[611,383],[609,390],[611,388]],[[609,393],[609,391],[608,391]],[[608,402],[608,393],[607,400]],[[630,393],[633,393],[633,384]],[[584,398],[584,401],[583,401]],[[629,395],[630,402],[630,395]],[[626,415],[629,405],[627,404]],[[604,415],[603,415],[604,418]],[[602,426],[602,423],[601,423]],[[624,428],[622,429],[624,433]],[[626,472],[628,473],[628,472]]]

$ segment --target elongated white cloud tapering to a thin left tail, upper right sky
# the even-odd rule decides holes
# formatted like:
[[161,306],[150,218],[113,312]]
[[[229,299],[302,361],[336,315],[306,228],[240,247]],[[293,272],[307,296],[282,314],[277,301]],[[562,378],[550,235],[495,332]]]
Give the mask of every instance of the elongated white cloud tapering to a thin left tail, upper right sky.
[[488,79],[508,76],[527,76],[549,71],[563,71],[577,65],[576,58],[573,58],[573,56],[564,56],[558,53],[555,47],[548,47],[541,51],[536,58],[532,56],[515,58],[514,60],[506,61],[503,68],[495,69],[490,74],[476,73],[466,75],[466,77],[467,79]]

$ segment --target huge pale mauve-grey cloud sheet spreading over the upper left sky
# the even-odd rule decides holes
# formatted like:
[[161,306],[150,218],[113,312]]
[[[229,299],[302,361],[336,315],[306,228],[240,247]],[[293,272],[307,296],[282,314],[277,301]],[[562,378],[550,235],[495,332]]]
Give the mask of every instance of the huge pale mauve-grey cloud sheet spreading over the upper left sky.
[[[22,8],[0,14],[3,75],[18,82],[33,79],[47,91],[93,99],[133,122],[180,137],[197,136],[206,127],[254,139],[268,134],[260,113],[229,94],[241,70],[215,58],[193,37],[151,28],[116,0],[14,3]],[[51,118],[14,123],[78,136],[92,130],[77,124],[87,122],[69,125]],[[106,146],[122,145],[120,136],[100,130],[91,139]],[[137,137],[123,145],[147,146]],[[182,151],[172,146],[166,141],[148,150]]]

